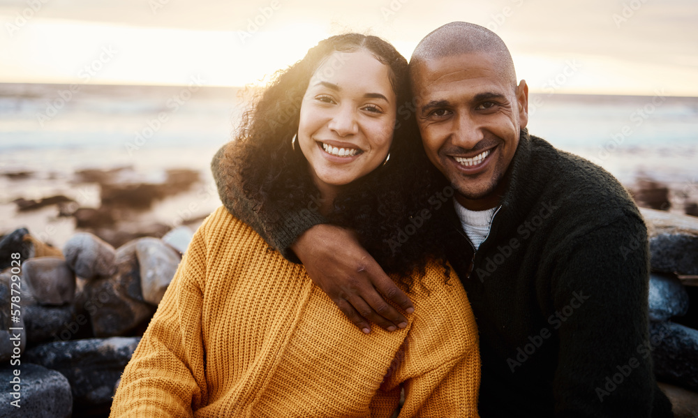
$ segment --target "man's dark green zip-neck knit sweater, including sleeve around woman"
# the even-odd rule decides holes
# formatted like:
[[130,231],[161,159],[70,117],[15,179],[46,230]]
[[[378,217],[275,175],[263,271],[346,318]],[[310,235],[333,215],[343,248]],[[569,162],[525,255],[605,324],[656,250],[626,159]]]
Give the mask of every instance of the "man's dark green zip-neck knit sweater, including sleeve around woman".
[[[225,193],[219,154],[223,204],[285,255],[297,234],[322,222],[290,214],[297,234],[269,230],[242,193]],[[442,211],[452,225],[449,260],[480,329],[480,415],[672,417],[652,373],[647,234],[628,193],[526,130],[506,181],[475,255],[452,205]]]

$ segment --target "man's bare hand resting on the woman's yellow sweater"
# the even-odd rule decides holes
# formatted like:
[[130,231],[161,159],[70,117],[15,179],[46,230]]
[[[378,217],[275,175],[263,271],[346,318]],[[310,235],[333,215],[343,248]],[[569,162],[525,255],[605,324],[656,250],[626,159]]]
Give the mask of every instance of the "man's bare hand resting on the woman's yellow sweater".
[[313,282],[364,333],[371,332],[368,321],[387,331],[407,326],[406,318],[383,296],[407,313],[415,311],[412,301],[359,245],[354,232],[335,225],[315,225],[291,249]]

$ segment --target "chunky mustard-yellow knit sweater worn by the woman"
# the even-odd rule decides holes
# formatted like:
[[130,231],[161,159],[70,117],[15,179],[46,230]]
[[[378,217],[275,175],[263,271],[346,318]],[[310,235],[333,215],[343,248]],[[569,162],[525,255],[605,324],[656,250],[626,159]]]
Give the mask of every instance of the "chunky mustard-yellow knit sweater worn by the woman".
[[363,334],[306,274],[218,208],[195,233],[111,417],[477,417],[461,283],[430,264],[408,327]]

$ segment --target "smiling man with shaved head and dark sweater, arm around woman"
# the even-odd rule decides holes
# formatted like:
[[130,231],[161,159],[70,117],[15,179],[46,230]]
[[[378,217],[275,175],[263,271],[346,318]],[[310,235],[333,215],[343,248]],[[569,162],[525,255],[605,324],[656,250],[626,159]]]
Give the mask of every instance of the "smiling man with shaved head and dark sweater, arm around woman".
[[[647,343],[646,227],[623,187],[528,135],[528,87],[495,33],[440,27],[417,46],[410,75],[424,149],[456,191],[439,216],[452,224],[448,259],[480,329],[480,415],[673,416]],[[351,233],[305,219],[299,237],[266,236],[364,332],[366,319],[403,327],[378,292],[409,315],[408,298]]]

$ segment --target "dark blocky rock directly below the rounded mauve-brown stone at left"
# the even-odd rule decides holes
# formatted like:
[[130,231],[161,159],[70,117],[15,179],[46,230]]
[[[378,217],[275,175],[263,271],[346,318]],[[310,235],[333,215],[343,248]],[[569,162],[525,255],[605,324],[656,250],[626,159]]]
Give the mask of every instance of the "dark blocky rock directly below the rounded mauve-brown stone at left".
[[[80,327],[75,326],[73,307],[29,305],[22,308],[24,329],[29,343],[73,338]],[[84,319],[87,323],[87,319]],[[67,337],[67,338],[66,338]]]

